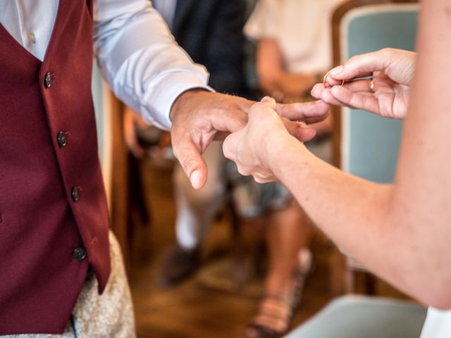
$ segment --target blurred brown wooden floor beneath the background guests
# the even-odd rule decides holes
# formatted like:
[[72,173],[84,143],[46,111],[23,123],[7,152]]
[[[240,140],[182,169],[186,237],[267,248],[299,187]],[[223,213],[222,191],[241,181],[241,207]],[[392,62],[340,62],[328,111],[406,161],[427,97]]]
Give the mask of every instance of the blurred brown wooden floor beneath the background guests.
[[[137,320],[138,338],[230,338],[243,337],[245,325],[256,310],[263,277],[251,273],[255,261],[242,259],[247,271],[245,287],[236,289],[230,250],[228,219],[218,220],[211,230],[199,273],[173,289],[156,287],[156,267],[164,249],[174,241],[175,205],[171,187],[171,168],[144,163],[142,179],[147,189],[147,206],[152,223],[135,227],[130,286]],[[252,226],[243,229],[249,252],[255,247]],[[316,269],[307,282],[302,303],[293,320],[299,325],[342,292],[342,258],[330,242],[317,232],[311,248]],[[359,281],[358,281],[359,282]],[[358,283],[359,288],[362,282]],[[404,298],[383,282],[378,294]]]

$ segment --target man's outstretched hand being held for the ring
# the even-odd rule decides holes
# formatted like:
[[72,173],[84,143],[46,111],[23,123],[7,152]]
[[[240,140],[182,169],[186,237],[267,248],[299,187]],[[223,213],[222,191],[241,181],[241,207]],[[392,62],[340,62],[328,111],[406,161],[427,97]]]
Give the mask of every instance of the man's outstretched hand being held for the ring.
[[[202,153],[212,139],[224,139],[230,132],[245,127],[253,101],[238,96],[192,89],[181,94],[171,108],[173,152],[192,187],[204,186],[207,177]],[[278,105],[276,111],[290,120],[318,122],[328,115],[328,104]],[[308,141],[315,130],[285,119],[285,128],[301,141]]]

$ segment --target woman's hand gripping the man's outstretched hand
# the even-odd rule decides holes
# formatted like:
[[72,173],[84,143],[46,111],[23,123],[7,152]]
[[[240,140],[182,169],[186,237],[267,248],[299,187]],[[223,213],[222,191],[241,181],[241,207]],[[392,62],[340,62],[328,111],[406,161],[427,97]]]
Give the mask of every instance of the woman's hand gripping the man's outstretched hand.
[[[237,163],[238,172],[252,175],[259,183],[277,180],[271,165],[276,162],[278,144],[283,146],[287,137],[299,142],[290,135],[275,109],[276,101],[266,96],[250,108],[247,125],[223,143],[224,156]],[[303,125],[299,123],[297,127],[302,129]]]

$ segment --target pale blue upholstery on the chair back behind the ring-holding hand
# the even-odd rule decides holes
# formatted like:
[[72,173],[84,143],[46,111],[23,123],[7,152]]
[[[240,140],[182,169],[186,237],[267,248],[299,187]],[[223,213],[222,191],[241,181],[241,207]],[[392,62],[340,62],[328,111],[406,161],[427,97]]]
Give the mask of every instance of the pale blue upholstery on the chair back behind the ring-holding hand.
[[[383,11],[374,9],[362,15],[350,11],[343,36],[345,41],[342,41],[342,48],[347,45],[342,61],[385,47],[413,51],[418,14],[417,9],[410,6],[411,9],[399,11],[393,5],[385,5]],[[350,125],[345,130],[347,135],[343,136],[350,138],[347,171],[373,182],[393,182],[402,121],[352,109]]]

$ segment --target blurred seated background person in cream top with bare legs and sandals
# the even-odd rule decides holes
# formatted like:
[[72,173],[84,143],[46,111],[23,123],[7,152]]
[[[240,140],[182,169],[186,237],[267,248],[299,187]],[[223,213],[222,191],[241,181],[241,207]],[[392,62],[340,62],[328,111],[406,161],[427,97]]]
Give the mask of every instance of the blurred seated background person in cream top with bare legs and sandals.
[[[279,102],[311,101],[311,87],[323,79],[332,65],[330,21],[333,9],[343,0],[260,0],[245,25],[247,37],[257,43],[257,83],[264,95]],[[314,125],[316,139],[309,142],[311,151],[330,161],[331,116]],[[299,270],[299,254],[311,256],[308,249],[311,224],[299,205],[280,182],[273,189],[285,196],[280,208],[265,228],[268,247],[272,248],[266,290],[259,312],[247,330],[249,337],[280,334],[288,328],[298,299],[287,287],[291,275]],[[309,265],[309,259],[300,263]],[[307,260],[307,261],[305,261]],[[280,262],[287,262],[281,264]],[[304,268],[304,271],[308,269]],[[304,277],[299,278],[304,279]],[[300,281],[302,284],[304,281]],[[299,290],[297,291],[299,293]],[[292,299],[280,302],[282,299]]]

